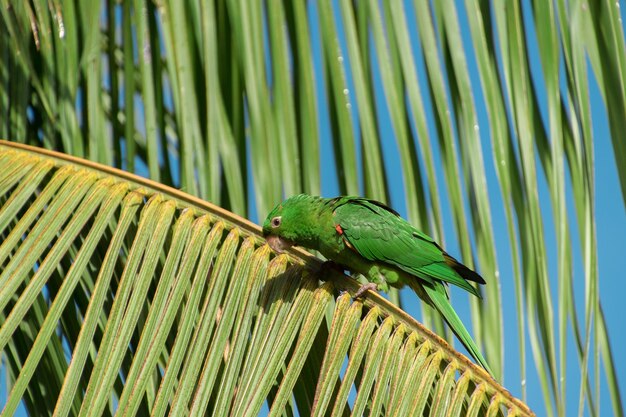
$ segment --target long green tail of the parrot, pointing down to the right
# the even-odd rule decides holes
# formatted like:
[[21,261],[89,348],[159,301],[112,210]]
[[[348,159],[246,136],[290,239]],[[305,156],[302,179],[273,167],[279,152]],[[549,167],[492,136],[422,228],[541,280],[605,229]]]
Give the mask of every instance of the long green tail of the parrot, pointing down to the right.
[[[428,295],[428,299],[431,302],[431,305],[439,311],[439,313],[443,316],[448,326],[452,329],[452,332],[456,335],[459,341],[465,346],[470,355],[478,362],[490,375],[493,375],[491,368],[487,364],[487,361],[483,357],[482,353],[480,353],[480,349],[474,343],[472,336],[470,336],[469,332],[463,325],[463,322],[459,318],[459,316],[452,308],[450,301],[448,300],[448,295],[446,293],[446,289],[442,283],[435,281],[434,285],[424,284],[421,285],[418,282],[410,282],[409,286],[418,294],[426,292]],[[419,289],[414,287],[421,287]]]

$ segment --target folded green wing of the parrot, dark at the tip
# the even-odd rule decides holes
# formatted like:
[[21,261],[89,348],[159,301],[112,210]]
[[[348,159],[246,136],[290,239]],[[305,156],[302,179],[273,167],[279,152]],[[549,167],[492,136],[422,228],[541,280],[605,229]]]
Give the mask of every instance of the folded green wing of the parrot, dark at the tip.
[[433,279],[454,284],[480,297],[476,288],[452,269],[449,262],[454,260],[433,239],[383,204],[343,199],[335,205],[334,220],[349,246],[364,258],[394,265],[430,284]]

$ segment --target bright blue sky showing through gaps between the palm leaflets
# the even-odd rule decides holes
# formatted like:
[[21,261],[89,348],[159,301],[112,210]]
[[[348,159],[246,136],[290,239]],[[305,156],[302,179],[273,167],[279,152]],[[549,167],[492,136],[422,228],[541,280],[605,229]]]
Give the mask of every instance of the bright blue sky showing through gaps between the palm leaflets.
[[[487,174],[487,186],[490,195],[491,214],[493,217],[493,232],[496,239],[496,247],[498,253],[498,265],[500,268],[500,281],[502,286],[503,297],[503,313],[504,317],[509,322],[515,322],[515,298],[514,298],[514,283],[513,272],[511,265],[511,258],[509,254],[509,238],[506,232],[506,223],[504,212],[502,210],[502,196],[498,186],[493,163],[491,162],[491,138],[489,137],[488,118],[485,109],[485,104],[480,91],[480,80],[478,78],[477,68],[474,61],[471,37],[468,31],[468,24],[464,13],[463,1],[457,0],[457,10],[460,13],[458,18],[460,21],[460,30],[465,42],[466,57],[468,59],[469,76],[474,88],[474,100],[476,102],[476,109],[478,112],[478,121],[481,132],[481,140],[483,147],[483,154],[486,160],[486,174]],[[529,0],[523,0],[523,8],[525,17],[529,17],[530,4]],[[415,15],[412,2],[405,1],[405,9],[407,10],[407,18],[409,25],[415,27]],[[338,11],[339,7],[335,4],[335,11]],[[322,65],[322,51],[320,47],[320,34],[317,31],[318,17],[317,10],[312,2],[309,5],[311,27],[314,28],[312,32],[313,49],[315,53],[315,73],[316,81],[318,83],[318,91],[324,96],[326,94],[324,79],[323,79],[323,65]],[[624,19],[624,8],[621,9],[622,19]],[[336,16],[336,22],[340,25],[341,19]],[[529,19],[526,19],[527,24],[531,24]],[[419,41],[416,38],[417,30],[413,30],[413,44],[414,49],[412,51],[414,58],[418,64],[418,78],[420,87],[423,92],[428,91],[427,79],[424,71],[423,62],[421,60],[421,54],[419,51]],[[345,41],[341,40],[345,51]],[[531,36],[527,38],[528,47],[531,54],[531,70],[533,74],[540,74],[540,61],[537,53],[536,40]],[[349,65],[349,59],[345,57],[345,62]],[[376,59],[375,56],[373,59]],[[376,66],[374,66],[376,67]],[[347,71],[349,73],[349,70]],[[540,79],[540,77],[535,77]],[[351,102],[353,103],[352,111],[353,117],[357,119],[357,108],[354,99],[354,86],[352,80],[348,78],[349,94]],[[389,118],[389,112],[386,108],[384,101],[384,95],[382,90],[382,84],[379,74],[375,74],[374,77],[375,94],[377,98],[377,111],[379,115],[379,128],[380,132],[384,132],[381,135],[383,139],[383,154],[385,165],[388,168],[390,195],[392,206],[398,210],[401,214],[406,215],[406,207],[404,200],[404,188],[403,178],[400,171],[400,155],[395,144],[393,137],[393,129]],[[540,106],[545,114],[546,97],[543,87],[539,84],[538,93],[540,99]],[[626,334],[620,331],[624,328],[621,322],[621,314],[626,312],[623,306],[622,294],[626,293],[626,280],[624,279],[624,271],[626,271],[626,256],[624,255],[624,240],[626,236],[626,216],[624,211],[624,205],[622,202],[621,189],[617,177],[617,171],[615,167],[615,159],[613,157],[613,148],[611,144],[610,131],[608,127],[608,121],[606,117],[606,111],[604,103],[602,101],[600,92],[598,90],[595,79],[590,72],[590,94],[591,94],[591,108],[593,117],[594,128],[594,151],[595,151],[595,177],[596,177],[596,221],[597,221],[597,240],[598,240],[598,261],[600,272],[600,294],[604,312],[607,318],[607,325],[609,334],[611,335],[611,345],[614,353],[615,365],[617,368],[618,378],[621,382],[622,396],[626,394],[624,384],[626,384],[626,357],[619,354],[620,352],[626,352]],[[434,120],[432,117],[432,111],[428,102],[426,104],[426,117],[429,123],[429,130],[431,137],[435,138],[436,129]],[[319,101],[320,105],[320,140],[322,146],[322,152],[324,155],[332,154],[331,144],[331,131],[328,120],[328,109],[323,106],[323,100]],[[358,126],[355,124],[355,132],[358,132]],[[358,147],[357,147],[358,149]],[[438,147],[433,147],[435,160],[439,160]],[[331,158],[326,158],[326,165],[322,166],[322,193],[324,196],[335,196],[338,194],[337,178],[335,174],[334,164]],[[556,241],[553,231],[551,207],[549,206],[548,191],[546,186],[545,177],[543,173],[540,173],[539,178],[539,194],[545,198],[542,198],[544,204],[542,206],[543,214],[545,218],[544,230],[546,232],[546,246],[548,249],[549,269],[551,276],[555,277],[551,282],[551,287],[556,289]],[[444,183],[444,176],[441,170],[441,165],[437,164],[437,176],[439,177],[439,184]],[[571,189],[568,189],[570,195],[568,214],[570,219],[574,219],[574,209],[571,201]],[[450,212],[450,206],[446,199],[446,194],[442,192],[442,209],[445,231],[445,246],[446,249],[453,255],[460,255],[458,240],[455,235],[453,227],[452,216]],[[258,222],[259,217],[255,210],[252,210],[252,220]],[[574,279],[576,281],[576,291],[578,294],[577,303],[579,310],[583,306],[582,291],[583,291],[583,270],[582,262],[580,261],[580,245],[578,241],[577,229],[574,227],[571,229],[573,239],[573,250],[575,257],[575,271]],[[405,308],[413,316],[419,318],[420,308],[417,297],[405,290],[402,293],[403,302]],[[459,311],[461,318],[466,323],[470,323],[469,320],[469,304],[467,297],[462,294],[462,291],[452,290],[452,298],[454,306]],[[485,300],[489,302],[489,300]],[[569,344],[568,344],[568,384],[567,384],[567,415],[578,414],[578,366],[576,364],[576,353],[571,339],[571,329],[569,329]],[[456,344],[459,348],[459,344]],[[532,356],[530,346],[526,346],[527,352],[527,402],[538,412],[539,415],[544,412],[544,399],[539,388],[539,381],[537,379],[534,365],[532,364]],[[519,341],[517,338],[517,328],[515,326],[505,327],[505,379],[504,385],[515,396],[521,395],[521,376],[519,370]],[[4,370],[2,368],[2,370]],[[0,399],[6,398],[6,375],[0,373]],[[569,382],[571,381],[571,382]],[[600,411],[601,415],[611,415],[612,407],[610,404],[610,398],[606,390],[606,386],[601,386],[600,397]],[[585,410],[585,415],[588,415],[588,410]],[[26,415],[23,408],[20,408],[17,413],[18,416]]]

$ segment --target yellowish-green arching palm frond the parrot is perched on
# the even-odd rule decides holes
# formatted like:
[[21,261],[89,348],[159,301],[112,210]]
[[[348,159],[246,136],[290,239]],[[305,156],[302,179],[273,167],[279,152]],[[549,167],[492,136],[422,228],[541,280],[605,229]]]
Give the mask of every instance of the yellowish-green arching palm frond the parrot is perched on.
[[0,144],[0,172],[3,417],[532,415],[384,299],[335,303],[358,284],[318,286],[316,258],[271,256],[231,213],[24,145]]

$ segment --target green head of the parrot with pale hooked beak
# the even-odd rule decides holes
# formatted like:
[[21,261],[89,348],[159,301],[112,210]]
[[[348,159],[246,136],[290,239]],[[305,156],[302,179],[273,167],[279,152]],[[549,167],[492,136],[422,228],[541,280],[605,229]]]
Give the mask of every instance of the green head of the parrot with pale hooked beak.
[[315,249],[319,200],[300,194],[274,207],[263,223],[263,236],[274,251],[283,253],[294,245]]

